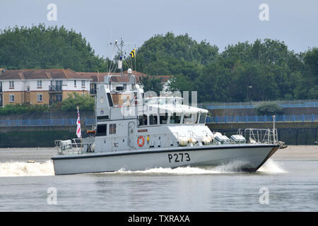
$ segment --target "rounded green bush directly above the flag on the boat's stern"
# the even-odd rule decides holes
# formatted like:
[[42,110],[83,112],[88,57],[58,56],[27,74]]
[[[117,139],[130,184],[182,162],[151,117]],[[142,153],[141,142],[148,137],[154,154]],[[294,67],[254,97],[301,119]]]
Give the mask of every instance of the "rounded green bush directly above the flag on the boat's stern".
[[88,94],[79,95],[78,93],[72,93],[61,102],[61,110],[64,112],[74,111],[77,106],[82,111],[93,111],[95,107],[94,97],[90,97]]

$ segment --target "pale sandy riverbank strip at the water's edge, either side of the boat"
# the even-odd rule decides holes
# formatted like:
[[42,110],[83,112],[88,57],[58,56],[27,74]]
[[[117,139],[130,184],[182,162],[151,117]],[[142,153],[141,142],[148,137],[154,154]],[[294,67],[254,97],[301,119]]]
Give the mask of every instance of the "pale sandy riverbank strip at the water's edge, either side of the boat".
[[[57,155],[57,148],[0,148],[0,162],[45,162]],[[289,145],[278,150],[274,160],[318,160],[318,145]]]

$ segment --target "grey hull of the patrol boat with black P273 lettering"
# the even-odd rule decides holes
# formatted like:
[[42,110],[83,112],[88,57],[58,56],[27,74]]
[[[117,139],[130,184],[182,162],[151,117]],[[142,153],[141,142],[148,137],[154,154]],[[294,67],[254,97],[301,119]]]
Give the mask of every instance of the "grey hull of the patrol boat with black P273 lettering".
[[54,172],[81,174],[113,172],[119,169],[136,171],[156,167],[215,166],[240,161],[240,169],[257,171],[278,145],[215,145],[175,149],[129,150],[112,153],[57,155],[52,157]]

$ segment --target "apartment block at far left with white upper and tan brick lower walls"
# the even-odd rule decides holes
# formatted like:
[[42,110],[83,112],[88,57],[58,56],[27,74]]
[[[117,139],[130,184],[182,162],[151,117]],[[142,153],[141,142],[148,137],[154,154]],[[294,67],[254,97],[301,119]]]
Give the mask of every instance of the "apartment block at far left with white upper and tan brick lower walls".
[[0,74],[0,106],[52,105],[68,93],[89,93],[90,79],[70,69],[6,70]]

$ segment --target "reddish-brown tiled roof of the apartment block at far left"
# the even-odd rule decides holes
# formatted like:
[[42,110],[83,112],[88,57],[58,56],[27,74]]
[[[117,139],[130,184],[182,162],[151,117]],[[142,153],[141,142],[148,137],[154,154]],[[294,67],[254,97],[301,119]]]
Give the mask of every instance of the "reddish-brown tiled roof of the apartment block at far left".
[[86,79],[71,69],[22,69],[6,70],[0,74],[0,80],[24,79]]

